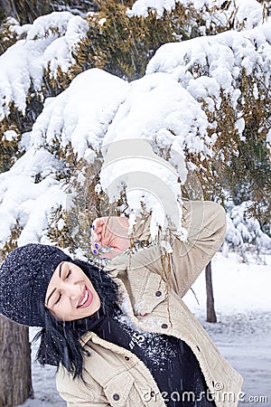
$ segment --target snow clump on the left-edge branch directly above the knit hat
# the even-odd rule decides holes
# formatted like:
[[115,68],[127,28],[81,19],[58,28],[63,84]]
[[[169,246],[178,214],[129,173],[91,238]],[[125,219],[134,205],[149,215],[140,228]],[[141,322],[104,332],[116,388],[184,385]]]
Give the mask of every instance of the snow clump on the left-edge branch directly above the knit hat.
[[66,194],[57,181],[61,163],[48,151],[30,148],[6,173],[0,174],[0,248],[17,222],[22,229],[18,245],[47,241],[51,208],[65,204]]

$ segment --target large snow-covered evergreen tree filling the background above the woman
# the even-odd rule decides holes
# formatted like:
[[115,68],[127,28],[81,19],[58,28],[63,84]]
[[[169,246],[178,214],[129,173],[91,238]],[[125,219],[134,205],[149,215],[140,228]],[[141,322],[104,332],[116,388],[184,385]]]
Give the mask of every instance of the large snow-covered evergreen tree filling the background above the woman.
[[[266,2],[183,0],[164,8],[154,0],[147,9],[140,0],[104,0],[86,15],[73,14],[66,2],[55,3],[57,10],[67,8],[33,24],[8,20],[0,33],[3,258],[28,241],[86,255],[89,224],[97,214],[133,213],[135,201],[123,190],[108,204],[112,196],[100,177],[103,147],[118,135],[148,140],[181,173],[182,182],[184,160],[205,199],[221,201],[225,187],[235,194],[229,167],[234,160],[243,166],[243,147],[255,140],[264,154],[250,148],[249,155],[256,155],[265,179],[270,171]],[[239,185],[246,185],[247,174],[239,175]],[[257,176],[251,171],[249,185],[259,204]],[[75,193],[73,185],[83,193],[68,213],[67,186]],[[267,183],[265,188],[267,196]],[[155,213],[150,202],[143,203]]]

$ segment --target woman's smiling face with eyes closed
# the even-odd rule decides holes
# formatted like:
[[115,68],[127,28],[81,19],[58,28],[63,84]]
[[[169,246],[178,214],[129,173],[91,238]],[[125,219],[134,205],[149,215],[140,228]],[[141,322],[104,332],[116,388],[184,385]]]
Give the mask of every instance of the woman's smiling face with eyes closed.
[[100,299],[86,274],[75,264],[62,261],[51,276],[45,307],[63,321],[89,317],[100,308]]

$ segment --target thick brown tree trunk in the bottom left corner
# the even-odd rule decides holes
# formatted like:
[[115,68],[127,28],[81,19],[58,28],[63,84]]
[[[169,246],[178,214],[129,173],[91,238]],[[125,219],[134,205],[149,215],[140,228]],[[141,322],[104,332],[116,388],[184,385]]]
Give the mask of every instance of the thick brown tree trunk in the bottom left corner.
[[32,395],[28,327],[0,317],[0,407],[14,407]]

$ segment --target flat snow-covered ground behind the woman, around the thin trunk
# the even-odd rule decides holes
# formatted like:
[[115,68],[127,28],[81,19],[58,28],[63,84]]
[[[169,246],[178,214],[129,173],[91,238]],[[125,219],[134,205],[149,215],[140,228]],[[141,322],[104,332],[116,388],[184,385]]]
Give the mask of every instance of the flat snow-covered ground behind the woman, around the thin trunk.
[[[217,324],[204,321],[203,273],[193,286],[200,305],[192,291],[185,296],[186,303],[201,320],[221,354],[244,377],[244,401],[238,403],[239,407],[271,405],[271,256],[266,256],[265,261],[266,265],[257,265],[253,260],[246,265],[238,263],[234,254],[228,259],[220,253],[216,255],[212,274]],[[24,402],[23,407],[65,406],[55,389],[53,376],[54,370],[50,367],[33,364],[35,398]],[[267,401],[259,402],[260,396],[266,396]]]

